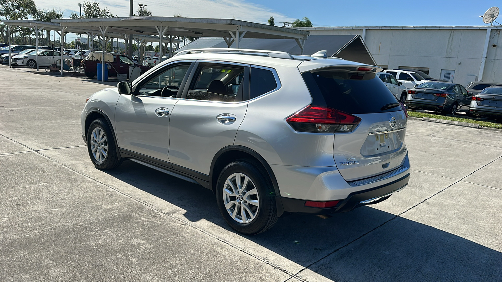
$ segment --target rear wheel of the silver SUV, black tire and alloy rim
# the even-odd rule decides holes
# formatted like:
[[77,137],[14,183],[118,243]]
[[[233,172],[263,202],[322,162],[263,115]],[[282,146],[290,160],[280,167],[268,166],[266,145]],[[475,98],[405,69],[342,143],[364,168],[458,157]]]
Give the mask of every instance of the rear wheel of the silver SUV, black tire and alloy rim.
[[265,169],[247,160],[237,160],[221,171],[216,202],[223,219],[235,231],[253,235],[277,222],[274,187]]

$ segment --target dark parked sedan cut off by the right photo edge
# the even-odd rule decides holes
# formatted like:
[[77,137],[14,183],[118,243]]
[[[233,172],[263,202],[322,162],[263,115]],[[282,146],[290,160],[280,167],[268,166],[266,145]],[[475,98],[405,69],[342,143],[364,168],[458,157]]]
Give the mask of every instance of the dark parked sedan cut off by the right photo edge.
[[502,119],[502,87],[484,88],[479,94],[472,96],[469,115]]

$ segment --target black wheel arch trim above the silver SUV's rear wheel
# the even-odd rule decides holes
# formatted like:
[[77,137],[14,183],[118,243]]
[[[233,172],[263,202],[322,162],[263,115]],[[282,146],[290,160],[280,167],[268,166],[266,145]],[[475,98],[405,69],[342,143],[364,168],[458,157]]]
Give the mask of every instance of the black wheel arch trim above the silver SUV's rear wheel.
[[272,185],[274,186],[274,191],[276,193],[276,196],[281,195],[276,176],[274,175],[274,172],[272,171],[272,168],[267,163],[267,161],[265,161],[265,159],[254,150],[238,145],[231,145],[224,147],[221,150],[219,150],[218,153],[216,153],[216,155],[214,155],[213,161],[211,162],[211,168],[209,171],[209,185],[214,193],[216,191],[216,182],[218,180],[220,172],[227,164],[239,159],[251,159],[260,163],[265,168],[270,180],[272,181]]

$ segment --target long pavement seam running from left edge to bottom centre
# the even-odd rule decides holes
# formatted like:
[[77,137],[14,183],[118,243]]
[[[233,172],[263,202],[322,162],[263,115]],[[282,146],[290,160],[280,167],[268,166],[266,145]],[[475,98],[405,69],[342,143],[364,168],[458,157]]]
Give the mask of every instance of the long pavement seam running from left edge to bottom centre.
[[[230,243],[230,242],[228,242],[228,241],[226,241],[226,240],[224,240],[224,239],[222,239],[222,238],[219,238],[218,236],[216,236],[216,235],[214,235],[214,234],[212,234],[212,233],[210,233],[210,232],[208,232],[208,231],[205,231],[204,229],[202,229],[202,228],[200,228],[200,227],[198,227],[198,226],[195,226],[195,225],[194,225],[194,224],[192,224],[191,222],[185,221],[185,220],[183,220],[183,219],[181,219],[181,218],[174,217],[174,216],[172,216],[171,214],[169,214],[168,212],[164,212],[163,210],[161,210],[161,209],[157,208],[155,205],[149,204],[149,203],[144,202],[144,201],[142,201],[142,200],[140,200],[140,199],[136,199],[136,198],[134,198],[134,197],[132,197],[132,196],[130,196],[130,195],[128,195],[128,194],[126,194],[126,193],[123,193],[123,192],[121,192],[121,191],[119,191],[119,190],[117,190],[117,189],[115,189],[115,188],[113,188],[113,187],[111,187],[111,186],[107,185],[107,184],[102,183],[102,182],[101,182],[101,181],[99,181],[99,180],[96,180],[96,179],[94,179],[94,178],[92,178],[92,177],[90,177],[90,176],[87,176],[87,175],[85,175],[85,174],[83,174],[83,173],[79,172],[79,171],[76,171],[76,170],[74,170],[74,169],[72,169],[72,168],[68,167],[67,165],[65,165],[65,164],[63,164],[63,163],[61,163],[61,162],[59,162],[59,161],[56,161],[56,160],[54,160],[54,159],[50,158],[49,156],[44,155],[44,154],[42,154],[42,153],[40,153],[40,152],[38,152],[38,151],[36,151],[36,150],[33,150],[33,149],[32,149],[32,148],[30,148],[29,146],[26,146],[26,145],[24,145],[24,144],[22,144],[22,143],[20,143],[20,142],[18,142],[18,141],[16,141],[16,140],[14,140],[14,139],[12,139],[12,138],[8,137],[8,136],[6,136],[6,135],[4,135],[4,134],[2,134],[2,133],[0,133],[0,135],[1,135],[1,136],[4,136],[4,137],[6,137],[6,138],[8,138],[9,140],[12,140],[13,142],[16,142],[16,143],[18,143],[18,144],[22,145],[22,146],[24,146],[24,147],[26,147],[26,148],[28,148],[28,149],[30,149],[30,150],[32,150],[33,152],[35,152],[35,153],[39,154],[40,156],[42,156],[42,157],[44,157],[44,158],[48,159],[49,161],[52,161],[52,162],[54,162],[54,163],[56,163],[56,164],[59,164],[60,166],[63,166],[63,167],[65,167],[66,169],[68,169],[68,170],[70,170],[70,171],[72,171],[72,172],[74,172],[74,173],[77,173],[77,174],[79,174],[79,175],[82,175],[82,176],[83,176],[83,177],[85,177],[85,178],[88,178],[88,179],[90,179],[90,180],[92,180],[92,181],[95,181],[96,183],[99,183],[99,184],[101,184],[101,185],[103,185],[103,186],[105,186],[105,187],[107,187],[107,188],[109,188],[109,189],[112,189],[112,190],[114,190],[115,192],[117,192],[117,193],[119,193],[119,194],[121,194],[121,195],[123,195],[123,196],[126,196],[126,197],[128,197],[128,198],[130,198],[130,199],[132,199],[132,200],[134,200],[134,201],[136,201],[136,202],[138,202],[138,203],[140,203],[140,204],[146,205],[146,206],[148,206],[149,208],[151,208],[151,209],[153,209],[153,210],[155,210],[155,211],[157,211],[157,212],[159,212],[159,213],[164,214],[165,216],[168,216],[168,217],[170,217],[170,218],[172,218],[172,219],[175,219],[175,220],[177,220],[177,221],[179,221],[179,222],[182,222],[183,224],[186,224],[186,225],[188,225],[188,226],[190,226],[190,227],[192,227],[192,228],[195,228],[195,229],[197,229],[198,231],[200,231],[200,232],[202,232],[202,233],[204,233],[204,234],[206,234],[206,235],[208,235],[208,236],[210,236],[210,237],[212,237],[212,238],[214,238],[214,239],[216,239],[216,240],[218,240],[218,241],[220,241],[220,242],[222,242],[222,243],[224,243],[224,244],[226,244],[226,245],[228,245],[228,246],[230,246],[230,247],[233,247],[234,249],[237,249],[237,250],[239,250],[239,251],[241,251],[241,252],[243,252],[243,253],[245,253],[245,254],[247,254],[247,255],[249,255],[249,256],[252,256],[252,257],[254,257],[254,258],[256,258],[256,259],[258,259],[258,260],[260,260],[260,261],[262,261],[262,262],[265,262],[266,264],[268,264],[268,265],[272,266],[274,269],[278,269],[278,270],[280,270],[280,271],[284,272],[285,274],[290,275],[291,277],[293,277],[293,276],[294,276],[294,274],[293,274],[293,273],[289,272],[289,271],[288,271],[288,270],[286,270],[284,267],[282,267],[282,266],[280,266],[280,265],[277,265],[277,264],[274,264],[274,263],[270,262],[270,261],[269,261],[268,259],[266,259],[265,257],[261,257],[261,256],[259,256],[259,255],[256,255],[256,254],[252,253],[252,252],[249,252],[249,251],[247,251],[247,250],[245,250],[245,249],[243,249],[243,248],[241,248],[241,247],[239,247],[239,246],[237,246],[237,245],[235,245],[235,244],[232,244],[232,243]],[[290,277],[290,278],[291,278],[291,277]],[[289,278],[288,278],[288,279],[289,279]],[[301,280],[301,281],[303,281],[303,282],[308,282],[307,280],[304,280],[304,279],[300,279],[300,280]]]

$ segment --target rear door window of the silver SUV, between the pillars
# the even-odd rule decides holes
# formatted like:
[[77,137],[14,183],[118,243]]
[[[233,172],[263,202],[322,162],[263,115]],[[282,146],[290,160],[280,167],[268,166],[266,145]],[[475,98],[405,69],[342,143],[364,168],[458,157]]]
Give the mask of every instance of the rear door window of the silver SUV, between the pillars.
[[241,95],[238,93],[243,77],[243,66],[203,64],[196,71],[186,98],[219,102],[240,101]]

